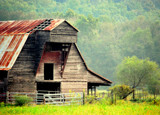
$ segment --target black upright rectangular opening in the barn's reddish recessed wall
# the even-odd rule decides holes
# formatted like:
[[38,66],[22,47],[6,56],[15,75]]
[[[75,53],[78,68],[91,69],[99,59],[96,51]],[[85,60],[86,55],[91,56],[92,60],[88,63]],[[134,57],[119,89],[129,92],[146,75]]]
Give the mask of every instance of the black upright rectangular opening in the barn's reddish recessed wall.
[[54,64],[45,63],[44,64],[44,80],[53,80],[54,78]]

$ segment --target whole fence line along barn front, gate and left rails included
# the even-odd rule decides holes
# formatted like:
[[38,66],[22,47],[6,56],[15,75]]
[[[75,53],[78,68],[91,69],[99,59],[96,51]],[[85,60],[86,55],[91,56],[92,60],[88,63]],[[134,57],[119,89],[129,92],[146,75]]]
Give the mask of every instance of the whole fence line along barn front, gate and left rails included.
[[[37,93],[19,93],[19,92],[7,92],[0,94],[0,101],[14,104],[15,97],[22,95],[31,97],[32,103],[36,104],[52,104],[52,105],[81,105],[83,104],[83,93],[59,93],[54,91],[39,91]],[[2,99],[3,97],[3,99]]]

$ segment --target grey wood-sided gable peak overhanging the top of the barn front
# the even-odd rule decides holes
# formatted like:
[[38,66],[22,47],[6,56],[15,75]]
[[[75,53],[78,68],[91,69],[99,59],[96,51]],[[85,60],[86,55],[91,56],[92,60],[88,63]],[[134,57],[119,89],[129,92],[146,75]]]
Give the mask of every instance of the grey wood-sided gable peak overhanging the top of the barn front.
[[50,32],[50,41],[58,43],[76,43],[77,31],[67,22],[63,22]]

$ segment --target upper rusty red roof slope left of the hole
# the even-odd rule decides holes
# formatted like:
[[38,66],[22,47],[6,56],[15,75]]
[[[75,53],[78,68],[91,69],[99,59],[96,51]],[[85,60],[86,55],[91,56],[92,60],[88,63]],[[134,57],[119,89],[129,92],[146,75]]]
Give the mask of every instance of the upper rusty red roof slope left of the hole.
[[1,21],[0,35],[24,34],[43,23],[43,20]]

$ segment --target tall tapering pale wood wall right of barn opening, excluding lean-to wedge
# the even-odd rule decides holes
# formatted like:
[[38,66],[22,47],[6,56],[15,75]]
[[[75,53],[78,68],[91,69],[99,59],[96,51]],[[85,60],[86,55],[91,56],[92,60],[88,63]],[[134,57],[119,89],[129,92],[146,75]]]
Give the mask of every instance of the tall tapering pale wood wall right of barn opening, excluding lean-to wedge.
[[87,70],[74,44],[71,46],[65,66],[61,91],[64,93],[87,91]]

